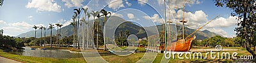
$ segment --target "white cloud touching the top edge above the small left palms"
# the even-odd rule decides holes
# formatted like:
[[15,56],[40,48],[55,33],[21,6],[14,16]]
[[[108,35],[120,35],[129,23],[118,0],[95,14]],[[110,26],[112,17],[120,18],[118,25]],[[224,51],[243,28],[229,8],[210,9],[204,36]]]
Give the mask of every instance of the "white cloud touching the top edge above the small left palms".
[[36,8],[36,11],[55,11],[61,12],[61,6],[54,0],[29,0],[26,8]]

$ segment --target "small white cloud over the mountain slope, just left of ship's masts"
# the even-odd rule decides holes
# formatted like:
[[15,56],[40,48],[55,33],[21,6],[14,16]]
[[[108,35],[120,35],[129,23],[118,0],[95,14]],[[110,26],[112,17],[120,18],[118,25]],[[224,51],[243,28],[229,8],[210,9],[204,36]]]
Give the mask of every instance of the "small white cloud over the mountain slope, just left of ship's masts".
[[153,17],[149,17],[149,16],[144,16],[143,18],[147,19],[147,20],[153,20],[153,22],[157,22],[159,24],[163,24],[163,19],[159,18],[158,14],[154,14]]

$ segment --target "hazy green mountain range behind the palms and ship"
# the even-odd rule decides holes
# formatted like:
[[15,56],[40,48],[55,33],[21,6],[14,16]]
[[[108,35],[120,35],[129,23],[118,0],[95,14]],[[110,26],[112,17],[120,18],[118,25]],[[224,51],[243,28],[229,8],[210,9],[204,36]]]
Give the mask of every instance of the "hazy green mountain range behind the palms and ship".
[[[113,22],[111,24],[115,25],[115,23],[117,22],[124,22],[125,20],[123,18],[120,17],[116,17],[116,16],[111,16],[111,18],[108,17],[109,20],[111,21],[116,21]],[[99,18],[100,20],[100,25],[102,25],[102,21],[104,20],[104,18]],[[97,21],[97,19],[96,19]],[[93,22],[93,20],[90,20],[90,22]],[[179,33],[182,33],[182,31],[180,31],[180,25],[171,25],[172,27],[176,27],[177,31],[179,31]],[[154,34],[156,32],[156,27],[157,30],[159,32],[163,31],[163,25],[156,25],[156,26],[149,26],[149,27],[141,27],[140,25],[136,25],[134,22],[124,22],[120,25],[118,25],[118,27],[116,29],[114,29],[113,27],[108,27],[108,30],[115,30],[115,36],[118,36],[118,32],[119,31],[126,31],[128,30],[130,32],[130,34],[135,34],[138,38],[146,38],[147,37],[147,33],[150,34]],[[154,29],[155,28],[155,29]],[[101,28],[103,29],[103,27]],[[173,30],[173,29],[172,29]],[[146,32],[147,31],[147,32]],[[189,27],[185,27],[184,33],[185,34],[191,34],[192,32],[194,32],[195,29],[190,29]],[[46,30],[46,36],[50,36],[50,32],[51,30]],[[57,30],[52,29],[52,35],[56,35],[57,34]],[[65,27],[61,27],[61,36],[71,36],[73,34],[73,26],[72,25],[67,25]],[[216,36],[216,35],[220,35],[220,34],[216,34],[214,32],[211,31],[198,31],[195,33],[196,35],[196,39],[206,39],[206,38],[210,38],[211,36]],[[35,31],[28,31],[22,34],[19,34],[16,37],[21,37],[21,38],[29,38],[29,37],[35,37]],[[44,30],[42,30],[42,37],[44,37]],[[36,30],[36,38],[40,38],[40,29]]]

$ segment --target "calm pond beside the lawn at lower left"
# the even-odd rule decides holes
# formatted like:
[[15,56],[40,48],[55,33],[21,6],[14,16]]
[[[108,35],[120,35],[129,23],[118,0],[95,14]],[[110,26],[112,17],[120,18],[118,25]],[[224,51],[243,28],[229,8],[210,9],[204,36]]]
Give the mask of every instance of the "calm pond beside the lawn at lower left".
[[24,55],[32,57],[51,57],[51,58],[78,58],[83,57],[82,53],[69,52],[67,50],[41,50],[36,48],[31,50],[29,46],[24,47],[24,52],[8,52],[15,55]]

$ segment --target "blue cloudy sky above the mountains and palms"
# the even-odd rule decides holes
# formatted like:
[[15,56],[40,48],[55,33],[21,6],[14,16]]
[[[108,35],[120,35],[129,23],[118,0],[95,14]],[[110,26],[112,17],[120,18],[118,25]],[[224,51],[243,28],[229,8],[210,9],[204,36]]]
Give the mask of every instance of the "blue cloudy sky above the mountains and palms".
[[[170,3],[166,7],[166,19],[179,22],[184,1],[166,0],[166,3]],[[236,36],[234,28],[237,20],[230,16],[231,10],[228,8],[217,8],[212,0],[188,0],[185,3],[185,20],[188,20],[190,28],[196,29],[220,15],[203,30],[225,37]],[[164,21],[164,0],[4,0],[0,7],[0,29],[4,30],[4,35],[17,36],[32,31],[33,25],[61,23],[65,26],[72,22],[74,8],[89,8],[88,11],[104,9],[111,11],[111,15],[138,22],[145,27],[152,25],[147,24],[148,21],[156,25]]]

